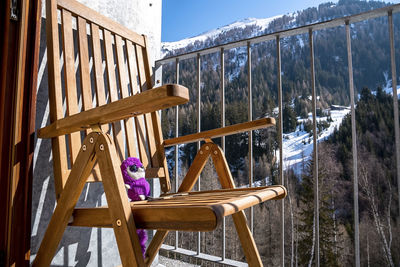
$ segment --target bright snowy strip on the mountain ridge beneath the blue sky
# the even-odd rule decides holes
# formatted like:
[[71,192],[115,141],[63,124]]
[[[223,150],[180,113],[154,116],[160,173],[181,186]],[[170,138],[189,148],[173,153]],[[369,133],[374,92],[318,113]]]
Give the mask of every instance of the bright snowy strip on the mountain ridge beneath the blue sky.
[[190,44],[194,44],[196,41],[204,42],[208,38],[211,38],[211,39],[216,38],[216,37],[218,37],[218,35],[220,35],[224,32],[228,32],[233,29],[244,29],[247,26],[252,26],[252,25],[259,26],[260,29],[257,32],[254,32],[252,34],[252,36],[256,36],[256,35],[260,34],[261,32],[263,32],[273,20],[280,18],[282,16],[283,15],[279,15],[279,16],[274,16],[271,18],[264,18],[264,19],[247,18],[247,19],[243,19],[240,21],[236,21],[229,25],[222,26],[222,27],[214,29],[214,30],[210,30],[210,31],[202,33],[198,36],[186,38],[186,39],[176,41],[176,42],[163,42],[163,43],[161,43],[161,50],[162,50],[162,54],[163,54],[162,57],[164,57],[168,51],[173,51],[176,49],[184,48]]

